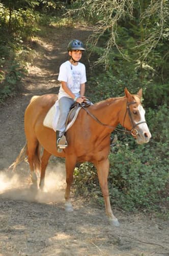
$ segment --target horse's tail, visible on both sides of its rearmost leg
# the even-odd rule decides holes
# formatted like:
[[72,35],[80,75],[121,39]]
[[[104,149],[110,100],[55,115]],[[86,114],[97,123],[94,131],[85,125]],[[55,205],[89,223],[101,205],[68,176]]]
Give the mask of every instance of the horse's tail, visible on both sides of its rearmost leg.
[[[28,156],[28,151],[27,151],[27,141],[24,145],[24,147],[21,149],[19,155],[17,156],[16,160],[9,166],[9,168],[12,168],[13,170],[16,169],[16,166],[21,163],[22,161],[27,162],[27,156]],[[35,170],[40,170],[41,167],[41,145],[38,142],[38,145],[35,150],[35,155],[33,157],[33,165]]]

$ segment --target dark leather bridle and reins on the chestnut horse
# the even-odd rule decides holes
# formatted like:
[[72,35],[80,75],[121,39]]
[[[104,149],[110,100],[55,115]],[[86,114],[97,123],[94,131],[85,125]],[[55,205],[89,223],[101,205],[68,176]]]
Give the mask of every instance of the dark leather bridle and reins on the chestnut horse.
[[119,128],[116,128],[116,127],[114,127],[114,126],[111,126],[111,125],[102,123],[96,116],[94,116],[94,115],[86,108],[87,106],[91,105],[91,102],[90,102],[90,103],[89,103],[89,102],[90,102],[90,101],[87,101],[87,105],[86,105],[85,102],[84,102],[84,103],[81,103],[81,104],[79,104],[79,105],[81,106],[81,108],[82,108],[83,110],[85,110],[85,111],[86,111],[93,119],[95,119],[99,124],[104,125],[104,126],[110,128],[110,129],[114,129],[114,130],[117,131],[117,132],[130,133],[132,136],[137,136],[137,135],[138,135],[138,131],[137,131],[137,129],[135,129],[135,127],[136,127],[137,125],[141,124],[141,123],[147,123],[146,121],[142,121],[142,122],[138,122],[138,123],[135,123],[135,124],[134,124],[133,119],[132,119],[132,116],[131,116],[131,111],[130,111],[130,107],[129,107],[129,106],[130,106],[131,104],[135,104],[136,101],[127,102],[126,112],[125,112],[124,119],[123,119],[123,126],[124,126],[124,122],[125,122],[125,119],[126,119],[126,115],[127,115],[127,113],[128,113],[129,119],[130,119],[130,123],[131,123],[131,126],[132,126],[131,131],[127,131],[126,129],[125,129],[125,130],[119,129]]

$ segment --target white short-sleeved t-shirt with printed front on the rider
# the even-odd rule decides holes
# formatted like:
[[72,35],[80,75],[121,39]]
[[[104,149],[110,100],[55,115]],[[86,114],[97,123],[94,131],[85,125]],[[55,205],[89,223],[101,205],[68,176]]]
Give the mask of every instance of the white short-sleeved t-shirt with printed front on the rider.
[[[72,69],[71,69],[72,67]],[[59,71],[59,81],[67,82],[67,86],[76,96],[80,93],[80,84],[85,83],[86,79],[86,68],[81,62],[78,62],[77,66],[71,65],[70,61],[64,62]],[[62,84],[59,90],[59,99],[61,97],[71,98],[62,88]]]

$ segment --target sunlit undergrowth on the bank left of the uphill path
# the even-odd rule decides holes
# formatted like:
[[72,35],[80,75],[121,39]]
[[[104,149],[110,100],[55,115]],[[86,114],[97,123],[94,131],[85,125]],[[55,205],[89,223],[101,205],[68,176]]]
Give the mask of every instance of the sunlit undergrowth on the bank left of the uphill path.
[[22,78],[34,55],[32,38],[47,38],[53,27],[73,26],[72,18],[61,16],[65,10],[62,1],[48,4],[44,2],[39,12],[36,8],[17,8],[11,17],[8,7],[0,4],[0,103],[22,90]]

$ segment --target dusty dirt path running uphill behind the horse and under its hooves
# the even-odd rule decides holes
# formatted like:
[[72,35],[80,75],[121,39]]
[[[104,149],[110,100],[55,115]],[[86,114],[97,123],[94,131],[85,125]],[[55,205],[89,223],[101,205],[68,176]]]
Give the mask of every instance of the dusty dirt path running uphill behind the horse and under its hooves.
[[[168,223],[115,210],[121,226],[108,224],[103,208],[73,200],[74,211],[64,210],[65,167],[51,157],[46,192],[30,189],[29,166],[8,171],[25,143],[23,115],[33,95],[57,93],[59,66],[66,60],[72,38],[86,40],[89,30],[50,30],[33,42],[37,55],[24,80],[22,95],[0,110],[0,255],[169,255]],[[52,38],[52,39],[51,39]]]

